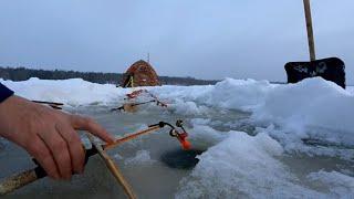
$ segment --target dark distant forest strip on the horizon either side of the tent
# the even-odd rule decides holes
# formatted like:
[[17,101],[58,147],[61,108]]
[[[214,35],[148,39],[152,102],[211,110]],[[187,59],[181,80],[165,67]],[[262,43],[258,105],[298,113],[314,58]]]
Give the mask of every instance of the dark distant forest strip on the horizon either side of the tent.
[[[0,78],[11,81],[25,81],[30,77],[39,77],[41,80],[67,80],[83,78],[84,81],[98,84],[116,84],[122,82],[122,73],[95,73],[95,72],[77,72],[62,70],[33,70],[25,67],[1,67]],[[194,77],[170,77],[159,76],[159,81],[164,85],[208,85],[216,84],[218,81],[197,80]]]

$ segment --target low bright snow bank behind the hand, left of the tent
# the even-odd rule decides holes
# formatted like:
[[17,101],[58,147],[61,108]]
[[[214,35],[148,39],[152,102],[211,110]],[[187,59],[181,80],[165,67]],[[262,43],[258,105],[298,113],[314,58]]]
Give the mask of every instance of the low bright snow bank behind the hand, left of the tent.
[[23,82],[1,81],[15,94],[34,101],[60,102],[71,106],[106,104],[127,90],[117,90],[112,84],[95,84],[81,78],[39,80],[32,77]]

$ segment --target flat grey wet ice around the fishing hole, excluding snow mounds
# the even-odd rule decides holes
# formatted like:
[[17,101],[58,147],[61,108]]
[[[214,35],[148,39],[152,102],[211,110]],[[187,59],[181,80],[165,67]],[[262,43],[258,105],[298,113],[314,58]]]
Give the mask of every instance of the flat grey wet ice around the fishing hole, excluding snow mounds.
[[[254,135],[254,126],[248,121],[250,114],[237,111],[218,111],[209,108],[200,115],[180,115],[174,112],[159,108],[145,107],[136,114],[110,113],[111,107],[86,106],[71,108],[69,112],[86,114],[102,124],[115,136],[134,133],[145,128],[147,125],[156,124],[159,121],[175,123],[184,119],[185,127],[191,128],[190,121],[194,118],[210,119],[207,125],[220,132],[241,130]],[[1,139],[0,139],[1,140]],[[192,140],[198,149],[206,150],[209,146],[200,136]],[[163,129],[134,142],[124,144],[110,150],[117,165],[124,172],[126,179],[134,188],[138,198],[174,198],[179,181],[191,172],[191,169],[176,169],[163,163],[166,153],[174,153],[180,147],[174,138],[168,136],[168,130]],[[148,151],[150,159],[132,161],[137,151]],[[306,155],[284,155],[280,160],[289,166],[300,179],[311,171],[324,170],[348,170],[353,175],[351,163],[332,157],[310,157]],[[30,157],[24,150],[0,142],[0,178],[32,168]],[[85,172],[82,176],[74,176],[72,181],[53,181],[44,178],[30,186],[27,186],[11,195],[2,198],[125,198],[122,188],[116,184],[110,171],[105,168],[103,160],[94,156],[88,160]]]

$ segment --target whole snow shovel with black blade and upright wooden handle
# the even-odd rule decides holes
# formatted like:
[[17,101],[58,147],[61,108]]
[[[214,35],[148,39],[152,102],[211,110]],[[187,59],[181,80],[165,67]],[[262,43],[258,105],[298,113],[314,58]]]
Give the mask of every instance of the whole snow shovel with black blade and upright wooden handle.
[[324,80],[331,81],[345,88],[345,64],[339,57],[327,57],[316,60],[315,46],[313,38],[312,18],[310,0],[303,0],[308,40],[310,50],[310,62],[289,62],[285,64],[288,74],[288,83],[298,83],[304,78],[321,76]]

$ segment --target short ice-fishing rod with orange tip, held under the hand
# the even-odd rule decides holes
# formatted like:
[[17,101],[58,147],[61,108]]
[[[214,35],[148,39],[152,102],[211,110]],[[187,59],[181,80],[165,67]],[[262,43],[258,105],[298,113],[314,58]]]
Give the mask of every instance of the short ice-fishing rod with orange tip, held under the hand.
[[[188,133],[183,127],[183,121],[178,119],[176,122],[176,127],[179,127],[181,129],[181,132],[179,132],[174,125],[171,125],[169,123],[159,122],[157,124],[149,125],[148,128],[146,128],[144,130],[127,135],[127,136],[119,138],[119,139],[116,139],[114,143],[101,145],[100,147],[97,147],[97,145],[92,145],[92,148],[85,149],[85,164],[87,164],[90,157],[100,153],[100,150],[101,150],[100,148],[102,148],[102,150],[106,151],[106,150],[112,149],[123,143],[135,139],[142,135],[146,135],[146,134],[156,132],[156,130],[162,129],[166,126],[168,126],[170,128],[169,135],[179,140],[183,149],[188,150],[191,148],[190,143],[187,140]],[[17,174],[14,176],[7,177],[6,179],[3,179],[0,182],[0,196],[12,192],[15,189],[24,187],[33,181],[37,181],[37,180],[48,176],[48,174],[45,172],[43,167],[35,159],[33,159],[33,161],[37,165],[35,168],[23,171],[21,174]]]

